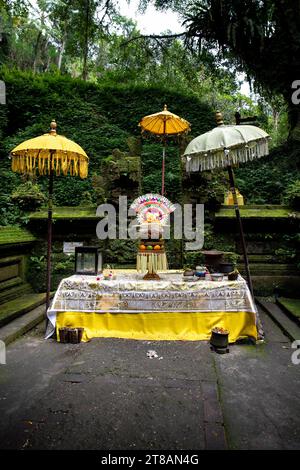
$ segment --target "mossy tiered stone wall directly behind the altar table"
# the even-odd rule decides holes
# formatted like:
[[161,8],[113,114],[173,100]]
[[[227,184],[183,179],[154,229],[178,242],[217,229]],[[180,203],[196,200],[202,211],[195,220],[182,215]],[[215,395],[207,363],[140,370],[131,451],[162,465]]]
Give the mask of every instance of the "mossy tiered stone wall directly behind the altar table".
[[[272,213],[272,208],[269,210]],[[222,208],[222,211],[226,211],[226,208]],[[63,217],[60,217],[60,213]],[[97,238],[96,225],[99,219],[96,217],[96,207],[86,208],[85,211],[81,209],[79,217],[77,217],[76,210],[73,210],[72,218],[72,214],[66,208],[55,209],[54,214],[57,218],[53,224],[53,289],[62,278],[74,273],[74,256],[63,253],[64,241],[82,241],[85,245],[99,246],[103,250],[105,264],[114,267],[135,266],[137,241],[131,239],[99,240]],[[238,268],[244,274],[236,220],[227,216],[215,217],[216,214],[218,212],[207,214],[204,248],[222,250],[231,257],[236,253],[239,255]],[[29,279],[35,289],[42,291],[45,290],[45,284],[41,280],[45,277],[42,273],[46,268],[47,225],[46,213],[42,213],[40,219],[38,215],[35,213],[29,224],[31,232],[40,239],[30,255]],[[300,280],[297,249],[298,219],[285,216],[275,220],[272,216],[266,218],[264,213],[261,220],[253,217],[248,219],[245,225],[250,269],[256,293],[269,295],[277,288],[296,292],[295,279]],[[195,267],[204,262],[201,250],[183,251],[181,240],[167,240],[166,250],[170,268]],[[293,279],[291,282],[289,282],[290,278]]]

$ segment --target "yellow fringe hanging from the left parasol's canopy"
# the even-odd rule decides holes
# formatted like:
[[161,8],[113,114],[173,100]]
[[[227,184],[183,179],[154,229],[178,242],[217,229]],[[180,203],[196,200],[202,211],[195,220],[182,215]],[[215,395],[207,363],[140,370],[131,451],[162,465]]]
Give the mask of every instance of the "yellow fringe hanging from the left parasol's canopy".
[[[12,170],[16,173],[35,174],[36,170],[40,176],[50,174],[50,156],[42,152],[27,152],[25,155],[12,155]],[[88,160],[79,157],[76,153],[68,155],[65,153],[55,154],[52,159],[52,171],[59,176],[80,176],[84,179],[88,176]]]

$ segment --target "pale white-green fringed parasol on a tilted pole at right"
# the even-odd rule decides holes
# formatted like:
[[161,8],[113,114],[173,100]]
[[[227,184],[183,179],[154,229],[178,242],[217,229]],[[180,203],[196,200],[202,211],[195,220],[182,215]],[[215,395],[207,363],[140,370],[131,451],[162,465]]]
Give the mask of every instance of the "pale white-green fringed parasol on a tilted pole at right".
[[223,124],[222,115],[219,112],[216,113],[216,120],[218,127],[193,139],[188,144],[183,158],[186,162],[187,172],[214,170],[215,168],[228,169],[229,182],[242,242],[247,281],[253,295],[249,261],[232,166],[268,155],[268,139],[270,136],[259,127],[252,125],[225,126]]

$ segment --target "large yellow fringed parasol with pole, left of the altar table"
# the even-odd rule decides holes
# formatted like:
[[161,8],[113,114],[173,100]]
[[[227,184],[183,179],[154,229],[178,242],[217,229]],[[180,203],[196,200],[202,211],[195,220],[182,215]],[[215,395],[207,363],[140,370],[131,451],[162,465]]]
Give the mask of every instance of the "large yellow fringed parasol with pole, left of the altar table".
[[47,294],[46,311],[50,304],[51,249],[52,249],[52,194],[53,176],[70,174],[86,178],[89,158],[85,151],[72,140],[56,133],[56,122],[50,132],[26,140],[11,151],[12,170],[17,173],[49,176],[48,192],[48,246],[47,246]]

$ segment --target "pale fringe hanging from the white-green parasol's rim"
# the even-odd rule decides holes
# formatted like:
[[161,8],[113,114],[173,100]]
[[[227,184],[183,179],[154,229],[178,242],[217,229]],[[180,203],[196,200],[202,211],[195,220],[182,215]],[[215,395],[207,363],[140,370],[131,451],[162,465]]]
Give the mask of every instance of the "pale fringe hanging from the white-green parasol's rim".
[[187,172],[207,171],[215,168],[225,168],[229,165],[246,163],[269,154],[267,139],[261,139],[249,147],[229,149],[229,155],[223,150],[214,153],[198,153],[191,156],[183,156]]

